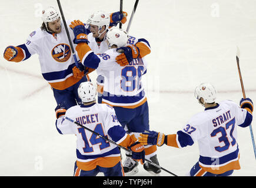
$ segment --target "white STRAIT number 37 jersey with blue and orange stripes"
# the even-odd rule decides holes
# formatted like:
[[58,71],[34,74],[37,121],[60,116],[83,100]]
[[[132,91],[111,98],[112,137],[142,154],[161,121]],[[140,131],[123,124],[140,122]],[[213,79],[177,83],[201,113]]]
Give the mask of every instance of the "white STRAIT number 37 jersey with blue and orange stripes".
[[213,108],[206,108],[188,120],[187,125],[177,132],[175,144],[184,147],[198,141],[199,164],[207,172],[220,174],[240,169],[237,143],[237,125],[250,125],[252,116],[236,103],[224,100]]

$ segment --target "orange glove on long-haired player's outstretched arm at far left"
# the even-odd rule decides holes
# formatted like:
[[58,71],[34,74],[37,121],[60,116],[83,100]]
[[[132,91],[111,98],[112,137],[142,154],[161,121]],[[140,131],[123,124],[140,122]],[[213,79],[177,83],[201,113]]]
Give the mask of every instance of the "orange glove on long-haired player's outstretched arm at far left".
[[7,61],[21,62],[24,59],[24,53],[19,47],[7,46],[4,51],[4,58]]

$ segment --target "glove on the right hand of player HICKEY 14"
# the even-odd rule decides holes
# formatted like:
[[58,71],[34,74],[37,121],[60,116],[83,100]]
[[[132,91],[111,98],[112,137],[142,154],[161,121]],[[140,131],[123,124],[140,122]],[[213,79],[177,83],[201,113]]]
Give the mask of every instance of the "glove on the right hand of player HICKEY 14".
[[131,146],[128,146],[128,149],[132,150],[132,159],[141,162],[141,164],[145,163],[145,150],[144,146],[139,142],[133,143]]

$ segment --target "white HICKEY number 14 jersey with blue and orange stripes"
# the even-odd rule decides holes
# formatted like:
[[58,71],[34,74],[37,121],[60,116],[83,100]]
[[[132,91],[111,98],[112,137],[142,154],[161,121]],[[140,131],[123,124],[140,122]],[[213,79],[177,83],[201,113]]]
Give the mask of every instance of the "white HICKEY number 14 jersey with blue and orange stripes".
[[56,128],[61,134],[77,136],[77,165],[82,170],[92,170],[97,165],[115,166],[121,160],[120,150],[116,145],[70,122],[65,117],[75,120],[117,144],[122,143],[124,147],[133,142],[119,124],[111,106],[98,103],[88,106],[72,106],[67,110],[65,116],[56,120]]

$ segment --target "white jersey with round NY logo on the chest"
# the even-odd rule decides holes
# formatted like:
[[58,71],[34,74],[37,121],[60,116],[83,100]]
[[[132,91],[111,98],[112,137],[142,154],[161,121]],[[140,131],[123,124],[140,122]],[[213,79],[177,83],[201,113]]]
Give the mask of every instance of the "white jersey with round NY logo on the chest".
[[[71,21],[67,22],[67,25],[70,23]],[[51,34],[38,28],[29,35],[25,46],[20,46],[24,51],[24,60],[35,53],[38,54],[42,76],[52,88],[59,90],[69,88],[80,80],[73,76],[75,60],[63,23],[61,27],[62,31],[58,34]],[[74,39],[73,31],[69,27],[68,30],[71,40]],[[76,44],[73,45],[75,48]],[[78,56],[77,60],[79,61]]]

